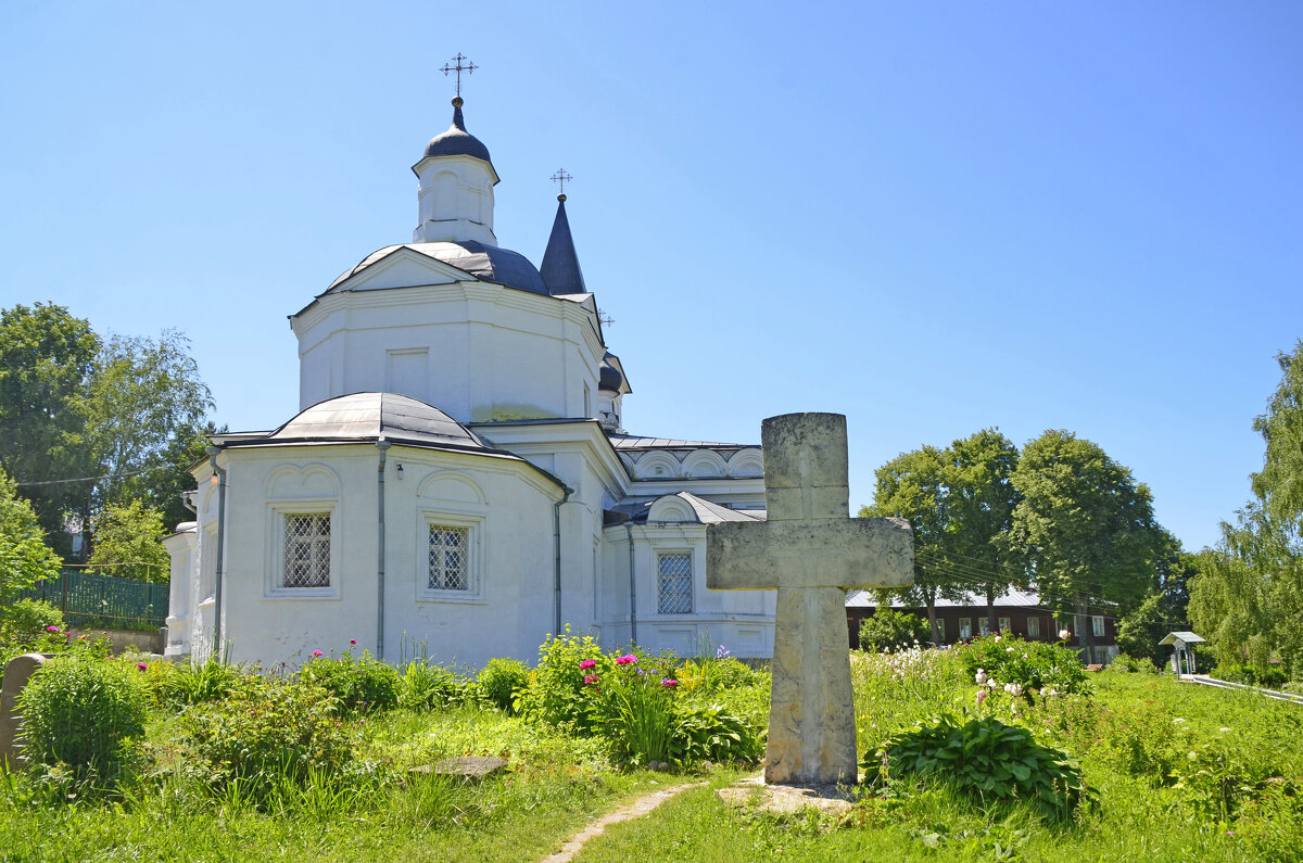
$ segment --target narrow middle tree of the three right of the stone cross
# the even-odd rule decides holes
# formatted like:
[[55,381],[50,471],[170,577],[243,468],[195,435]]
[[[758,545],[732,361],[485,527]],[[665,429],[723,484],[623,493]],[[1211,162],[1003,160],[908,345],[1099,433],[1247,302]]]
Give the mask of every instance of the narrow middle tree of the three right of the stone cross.
[[1018,506],[1012,475],[1018,447],[997,429],[982,429],[950,445],[946,451],[947,524],[945,550],[950,566],[967,574],[986,598],[986,621],[995,624],[995,597],[1009,589],[1014,572],[1005,566],[1003,538]]

